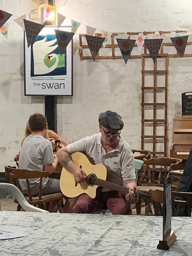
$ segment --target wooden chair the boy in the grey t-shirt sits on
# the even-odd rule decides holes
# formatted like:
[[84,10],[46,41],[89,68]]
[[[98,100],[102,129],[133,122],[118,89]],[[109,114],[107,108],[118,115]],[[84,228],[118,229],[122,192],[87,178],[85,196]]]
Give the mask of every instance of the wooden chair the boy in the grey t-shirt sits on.
[[[62,193],[54,193],[50,195],[42,195],[43,193],[43,187],[42,187],[42,181],[44,177],[49,176],[49,172],[39,172],[39,171],[28,171],[28,170],[21,170],[16,169],[16,167],[11,166],[5,166],[5,175],[7,177],[7,180],[9,183],[15,185],[21,193],[24,195],[23,190],[20,186],[19,179],[25,179],[27,183],[28,188],[28,196],[24,195],[26,200],[29,204],[32,204],[34,206],[38,206],[39,208],[43,209],[45,208],[46,211],[49,211],[49,204],[50,202],[56,201],[57,207],[59,209],[59,212],[63,212],[63,194]],[[32,196],[31,195],[31,188],[29,186],[29,179],[36,179],[40,178],[40,184],[39,184],[39,193],[38,196]],[[18,203],[16,199],[14,199],[14,202],[18,204],[17,211],[20,211],[21,206]]]

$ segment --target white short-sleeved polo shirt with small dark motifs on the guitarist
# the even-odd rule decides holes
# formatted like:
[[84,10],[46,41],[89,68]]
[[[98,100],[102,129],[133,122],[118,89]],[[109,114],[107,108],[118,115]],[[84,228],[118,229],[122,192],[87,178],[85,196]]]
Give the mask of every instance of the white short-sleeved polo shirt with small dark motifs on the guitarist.
[[[67,145],[70,154],[84,152],[92,157],[95,164],[104,164],[111,169],[111,182],[123,185],[123,180],[135,179],[134,156],[130,146],[120,137],[117,147],[106,153],[101,143],[101,133],[87,136],[84,139]],[[103,188],[102,191],[108,191]]]

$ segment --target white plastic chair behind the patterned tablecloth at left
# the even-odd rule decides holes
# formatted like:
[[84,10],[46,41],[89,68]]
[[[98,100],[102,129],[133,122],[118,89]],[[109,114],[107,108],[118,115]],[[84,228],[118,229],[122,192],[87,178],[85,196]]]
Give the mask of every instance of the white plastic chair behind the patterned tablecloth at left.
[[[7,196],[14,196],[20,206],[26,211],[26,212],[48,212],[43,209],[37,208],[27,202],[19,188],[17,188],[15,185],[10,183],[0,183],[0,199]],[[1,204],[0,204],[0,211],[1,211]]]

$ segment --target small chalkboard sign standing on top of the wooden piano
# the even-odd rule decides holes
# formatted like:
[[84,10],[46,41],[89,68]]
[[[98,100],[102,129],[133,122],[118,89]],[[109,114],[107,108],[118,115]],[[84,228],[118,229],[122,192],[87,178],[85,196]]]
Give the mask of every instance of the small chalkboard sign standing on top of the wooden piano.
[[182,117],[192,117],[192,92],[182,93]]

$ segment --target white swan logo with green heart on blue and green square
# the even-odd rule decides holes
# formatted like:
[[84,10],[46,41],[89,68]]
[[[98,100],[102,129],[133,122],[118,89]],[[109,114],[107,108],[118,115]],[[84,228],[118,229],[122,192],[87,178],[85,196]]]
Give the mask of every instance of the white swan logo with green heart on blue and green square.
[[66,73],[66,49],[60,55],[56,36],[37,36],[31,45],[31,77],[63,76]]

